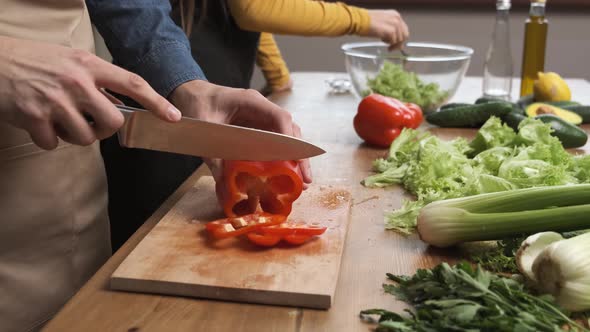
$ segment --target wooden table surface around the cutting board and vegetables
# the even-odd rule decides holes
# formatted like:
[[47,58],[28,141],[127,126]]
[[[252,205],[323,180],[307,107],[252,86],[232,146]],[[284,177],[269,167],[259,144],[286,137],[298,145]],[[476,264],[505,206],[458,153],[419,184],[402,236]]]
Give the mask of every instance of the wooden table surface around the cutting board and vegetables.
[[[385,273],[412,274],[441,260],[454,260],[452,250],[428,248],[416,236],[404,238],[383,228],[386,210],[398,208],[402,189],[367,189],[359,182],[371,174],[371,162],[385,150],[362,144],[352,128],[358,100],[334,95],[324,80],[342,73],[295,73],[293,92],[272,100],[293,113],[306,139],[328,153],[314,158],[314,182],[350,186],[352,219],[344,249],[335,303],[330,310],[250,305],[109,290],[109,277],[128,253],[199,177],[193,174],[92,277],[46,326],[45,331],[369,331],[358,313],[367,308],[400,310],[402,303],[381,289]],[[590,84],[569,80],[576,100],[590,104]],[[518,82],[515,82],[515,91]],[[454,100],[473,102],[481,79],[466,78]],[[516,94],[514,94],[516,95]],[[588,129],[588,128],[586,128]],[[469,130],[440,132],[449,138]],[[585,147],[589,151],[588,145]],[[321,273],[321,271],[318,271]],[[48,283],[50,286],[50,282]]]

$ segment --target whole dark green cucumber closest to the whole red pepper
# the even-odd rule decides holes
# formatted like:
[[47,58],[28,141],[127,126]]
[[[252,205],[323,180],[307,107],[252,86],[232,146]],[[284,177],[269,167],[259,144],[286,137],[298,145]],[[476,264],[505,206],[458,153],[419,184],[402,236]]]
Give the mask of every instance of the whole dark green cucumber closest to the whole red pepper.
[[502,117],[512,111],[507,102],[491,102],[448,108],[426,116],[426,121],[439,127],[479,128],[491,116]]

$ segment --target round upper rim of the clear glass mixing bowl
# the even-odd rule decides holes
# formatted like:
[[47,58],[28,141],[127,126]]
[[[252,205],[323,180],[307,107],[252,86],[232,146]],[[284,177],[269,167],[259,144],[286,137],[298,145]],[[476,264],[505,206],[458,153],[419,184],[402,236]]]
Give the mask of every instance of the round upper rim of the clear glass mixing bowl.
[[394,54],[369,54],[367,52],[363,52],[358,50],[362,47],[388,47],[388,44],[383,42],[355,42],[355,43],[346,43],[343,44],[340,48],[344,51],[344,54],[359,58],[366,58],[366,59],[398,59],[404,61],[417,61],[417,62],[427,62],[427,61],[457,61],[457,60],[467,60],[471,58],[473,54],[473,49],[467,46],[461,45],[453,45],[453,44],[441,44],[441,43],[430,43],[430,42],[409,42],[406,43],[404,46],[407,47],[417,47],[417,48],[436,48],[436,49],[443,49],[443,50],[451,50],[457,51],[459,54],[453,55],[427,55],[427,56],[413,56],[413,55],[394,55]]

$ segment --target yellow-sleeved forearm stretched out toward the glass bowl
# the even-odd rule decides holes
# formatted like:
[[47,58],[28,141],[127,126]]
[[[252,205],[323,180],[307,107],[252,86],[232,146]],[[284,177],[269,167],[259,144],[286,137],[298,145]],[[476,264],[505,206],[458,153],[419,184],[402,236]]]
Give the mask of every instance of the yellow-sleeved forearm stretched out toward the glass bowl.
[[236,23],[245,30],[302,36],[366,35],[365,9],[313,0],[228,0]]

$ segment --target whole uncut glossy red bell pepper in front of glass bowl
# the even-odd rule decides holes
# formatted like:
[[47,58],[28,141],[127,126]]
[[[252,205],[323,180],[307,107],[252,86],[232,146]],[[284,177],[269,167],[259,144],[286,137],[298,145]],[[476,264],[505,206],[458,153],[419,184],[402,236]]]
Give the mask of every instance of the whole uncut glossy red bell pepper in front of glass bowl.
[[365,142],[386,148],[403,128],[416,129],[422,120],[422,110],[418,105],[371,94],[358,106],[354,130]]

